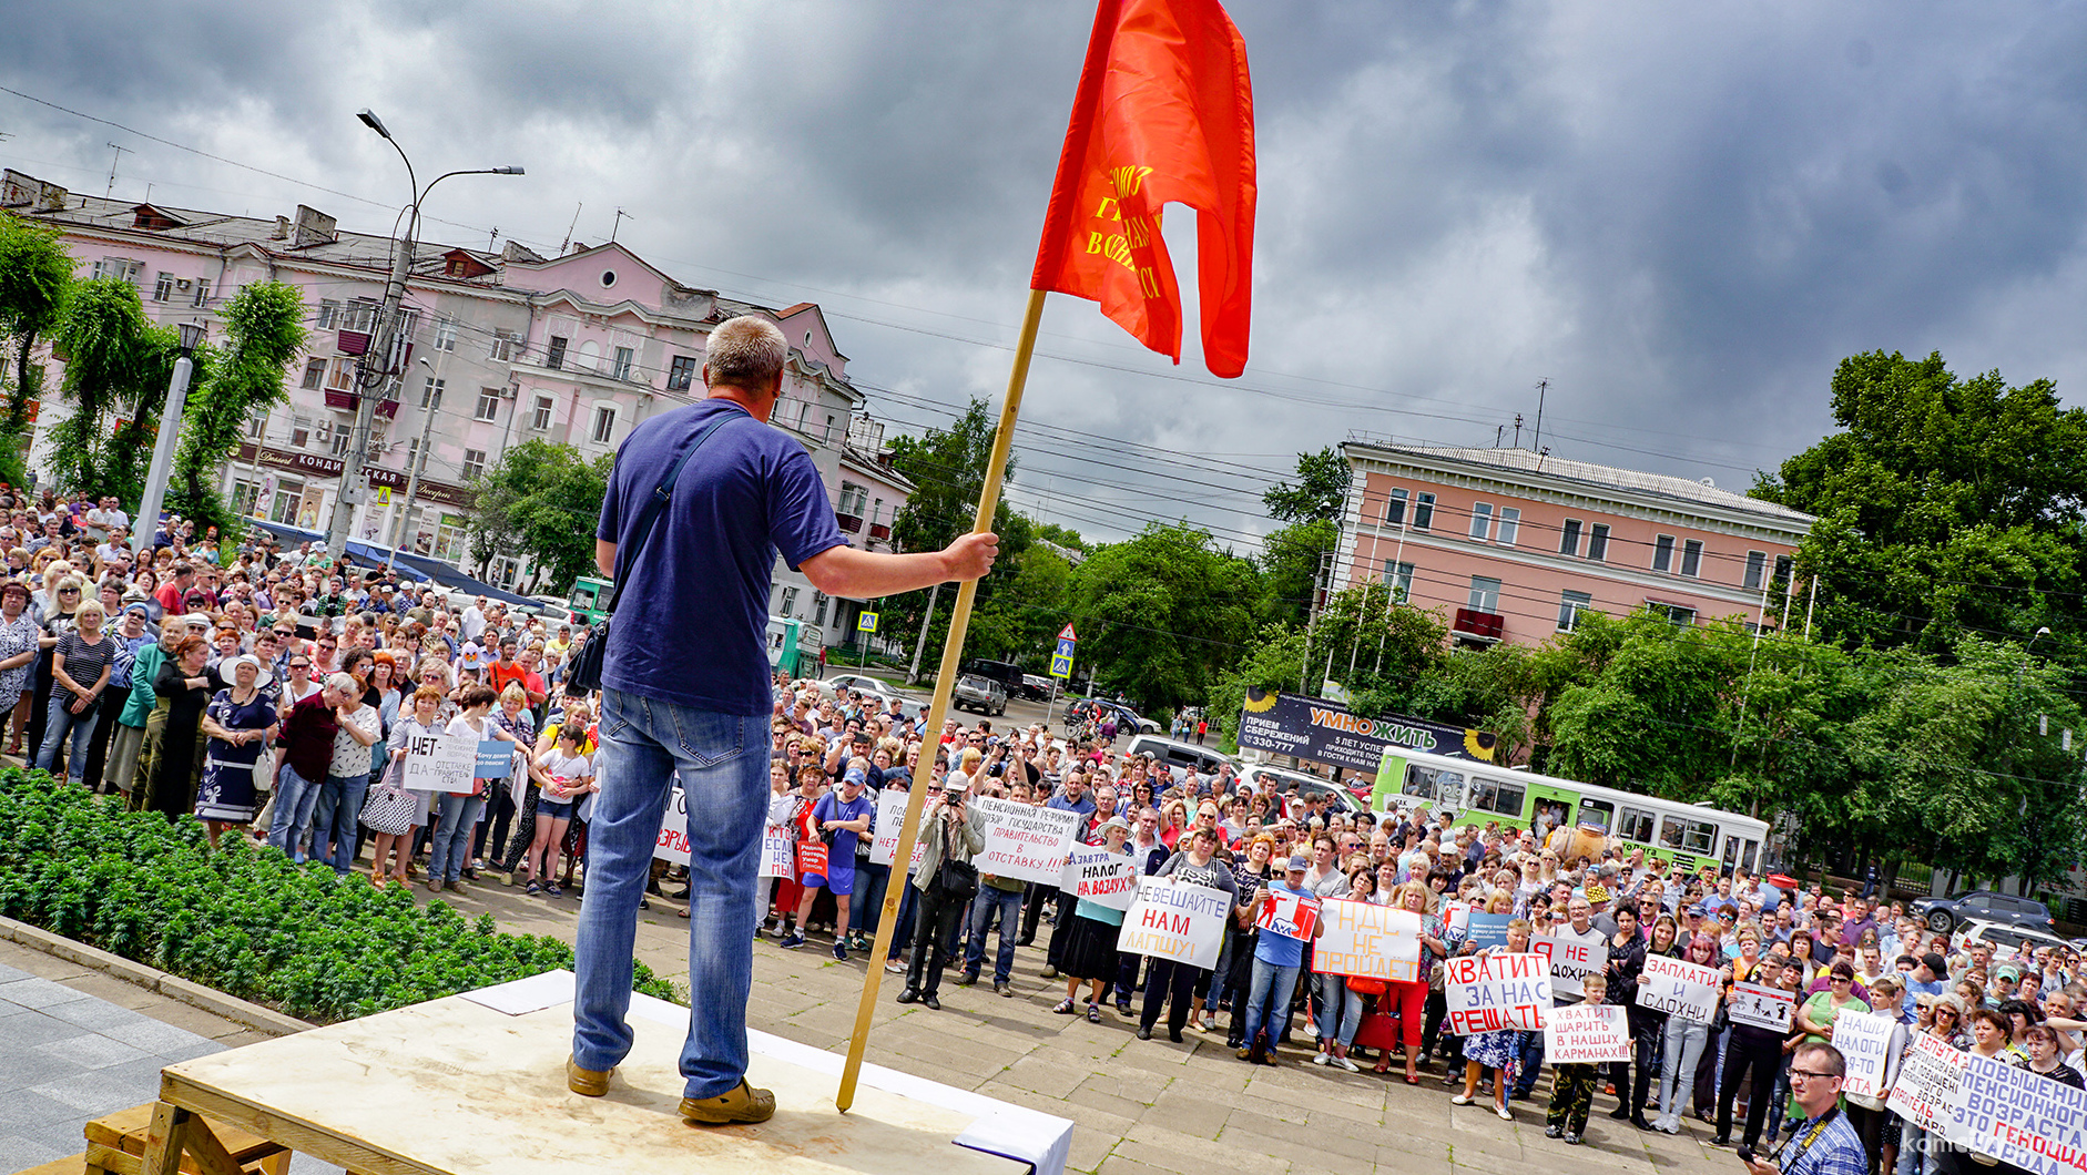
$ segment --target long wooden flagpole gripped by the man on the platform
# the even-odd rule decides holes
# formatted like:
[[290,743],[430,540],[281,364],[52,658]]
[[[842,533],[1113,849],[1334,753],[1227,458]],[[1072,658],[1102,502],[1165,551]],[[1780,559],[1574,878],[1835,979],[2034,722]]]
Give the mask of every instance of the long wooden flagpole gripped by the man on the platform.
[[[1023,311],[1023,334],[1014,344],[1014,369],[1008,371],[1008,397],[1000,405],[1000,426],[993,430],[993,453],[985,461],[985,486],[979,490],[979,511],[970,530],[993,528],[993,511],[1000,505],[1000,478],[1008,470],[1008,449],[1014,445],[1014,417],[1023,409],[1023,386],[1029,382],[1029,357],[1037,346],[1037,323],[1044,321],[1044,290],[1029,290],[1029,307]],[[956,609],[950,614],[950,639],[941,647],[941,672],[935,674],[935,701],[927,710],[927,733],[920,739],[920,762],[914,764],[912,789],[906,795],[906,820],[899,826],[899,847],[891,858],[891,883],[885,885],[883,916],[877,918],[877,945],[870,948],[868,975],[862,979],[862,1002],[856,1004],[856,1031],[847,1037],[847,1064],[841,1066],[841,1092],[833,1104],[845,1114],[856,1104],[856,1081],[862,1077],[862,1050],[870,1044],[870,1016],[877,1012],[877,991],[883,985],[883,958],[891,954],[891,935],[897,933],[899,900],[906,895],[906,866],[912,862],[912,845],[920,833],[920,810],[927,808],[927,789],[933,778],[943,718],[950,714],[950,693],[956,687],[956,666],[964,660],[964,634],[970,628],[970,603],[979,597],[979,580],[966,580],[956,589]]]

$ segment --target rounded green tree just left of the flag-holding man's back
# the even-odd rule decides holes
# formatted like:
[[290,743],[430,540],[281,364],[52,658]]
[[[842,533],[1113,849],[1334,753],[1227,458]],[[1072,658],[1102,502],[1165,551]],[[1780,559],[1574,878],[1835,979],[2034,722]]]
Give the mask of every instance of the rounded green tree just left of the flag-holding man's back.
[[480,574],[495,555],[536,566],[530,593],[572,591],[595,566],[595,522],[609,490],[611,453],[589,461],[572,445],[524,440],[472,482],[470,543]]

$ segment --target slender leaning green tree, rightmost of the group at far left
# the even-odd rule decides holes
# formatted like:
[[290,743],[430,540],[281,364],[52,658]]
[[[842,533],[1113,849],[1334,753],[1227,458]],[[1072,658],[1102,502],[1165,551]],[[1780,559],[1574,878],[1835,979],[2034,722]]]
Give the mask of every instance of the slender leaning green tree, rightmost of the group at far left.
[[238,518],[217,495],[217,476],[238,451],[246,422],[290,401],[284,371],[305,346],[305,296],[284,282],[255,282],[225,303],[219,321],[223,357],[188,392],[167,509],[230,536]]

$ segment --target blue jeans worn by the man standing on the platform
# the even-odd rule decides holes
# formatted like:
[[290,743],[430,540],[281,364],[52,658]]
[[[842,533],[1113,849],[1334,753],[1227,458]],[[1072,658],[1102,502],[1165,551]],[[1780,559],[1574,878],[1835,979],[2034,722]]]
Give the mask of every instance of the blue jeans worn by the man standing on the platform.
[[572,1058],[614,1069],[630,1052],[630,956],[659,818],[680,781],[689,799],[689,1098],[720,1098],[747,1075],[753,987],[753,874],[768,818],[768,716],[601,691],[601,793],[586,826],[586,897],[574,950]]

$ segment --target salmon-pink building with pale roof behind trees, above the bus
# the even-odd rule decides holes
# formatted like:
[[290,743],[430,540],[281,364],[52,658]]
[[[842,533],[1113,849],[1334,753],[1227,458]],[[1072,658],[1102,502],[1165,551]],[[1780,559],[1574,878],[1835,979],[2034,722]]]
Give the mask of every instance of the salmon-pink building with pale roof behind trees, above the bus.
[[[1584,609],[1676,624],[1778,624],[1778,568],[1812,515],[1690,482],[1526,449],[1348,440],[1334,582],[1390,582],[1469,645],[1536,645]],[[1801,607],[1801,601],[1799,601]]]

